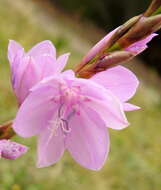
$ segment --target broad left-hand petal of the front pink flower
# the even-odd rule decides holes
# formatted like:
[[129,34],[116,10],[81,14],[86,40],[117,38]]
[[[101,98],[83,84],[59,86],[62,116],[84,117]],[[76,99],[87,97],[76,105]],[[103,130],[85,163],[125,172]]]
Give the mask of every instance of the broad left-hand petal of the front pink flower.
[[58,107],[53,101],[54,95],[56,96],[54,89],[48,86],[30,93],[13,123],[13,129],[18,135],[34,136],[48,126],[48,121]]

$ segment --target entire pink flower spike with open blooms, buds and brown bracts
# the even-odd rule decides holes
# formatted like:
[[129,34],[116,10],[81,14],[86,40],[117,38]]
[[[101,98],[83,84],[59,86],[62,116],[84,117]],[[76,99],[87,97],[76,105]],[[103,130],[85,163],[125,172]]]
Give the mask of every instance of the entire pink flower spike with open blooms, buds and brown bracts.
[[5,140],[17,133],[38,137],[39,168],[56,163],[67,150],[83,167],[101,169],[109,152],[108,128],[124,129],[125,111],[139,109],[128,103],[139,82],[118,65],[147,48],[161,27],[160,13],[161,0],[153,0],[147,11],[98,42],[74,71],[63,71],[69,54],[56,58],[50,41],[25,53],[11,40],[8,59],[19,110],[13,123],[0,127],[0,157],[15,159],[26,152]]

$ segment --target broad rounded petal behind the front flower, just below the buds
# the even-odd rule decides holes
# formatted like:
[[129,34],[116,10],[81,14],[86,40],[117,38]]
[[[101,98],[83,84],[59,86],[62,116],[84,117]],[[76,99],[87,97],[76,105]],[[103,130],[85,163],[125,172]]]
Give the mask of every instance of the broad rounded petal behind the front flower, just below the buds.
[[129,100],[139,85],[136,76],[122,66],[97,73],[91,80],[110,90],[122,102]]

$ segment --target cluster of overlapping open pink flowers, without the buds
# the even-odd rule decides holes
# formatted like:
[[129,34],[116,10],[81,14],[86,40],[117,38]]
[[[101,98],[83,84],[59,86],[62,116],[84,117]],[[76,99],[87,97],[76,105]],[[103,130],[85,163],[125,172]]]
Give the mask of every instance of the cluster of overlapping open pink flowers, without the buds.
[[[138,109],[127,103],[138,80],[122,66],[76,78],[71,70],[61,72],[68,54],[56,61],[53,47],[45,41],[25,55],[10,42],[13,87],[21,103],[12,127],[22,137],[38,136],[38,167],[54,164],[68,150],[82,166],[98,170],[109,152],[107,129],[127,127],[124,111]],[[32,60],[27,66],[26,59]]]

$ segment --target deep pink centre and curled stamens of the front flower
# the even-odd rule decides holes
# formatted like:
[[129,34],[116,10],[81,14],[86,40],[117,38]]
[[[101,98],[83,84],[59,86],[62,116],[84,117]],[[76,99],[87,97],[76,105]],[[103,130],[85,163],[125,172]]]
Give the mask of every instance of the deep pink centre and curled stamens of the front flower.
[[55,103],[59,104],[57,112],[53,118],[49,121],[50,137],[57,136],[59,129],[62,130],[64,136],[71,132],[69,126],[70,119],[75,114],[80,114],[79,104],[82,101],[88,101],[83,95],[81,95],[81,89],[79,86],[69,86],[61,81],[60,83],[60,95],[54,97]]

